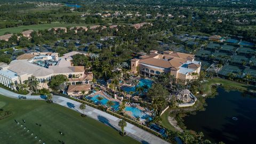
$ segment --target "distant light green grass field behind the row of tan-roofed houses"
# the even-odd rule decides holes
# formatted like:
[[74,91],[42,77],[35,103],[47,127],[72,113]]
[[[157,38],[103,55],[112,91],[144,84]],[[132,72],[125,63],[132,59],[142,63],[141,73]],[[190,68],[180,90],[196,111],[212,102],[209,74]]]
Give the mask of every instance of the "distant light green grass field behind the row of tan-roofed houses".
[[6,32],[10,33],[20,33],[23,29],[33,29],[33,30],[44,30],[52,27],[74,27],[74,26],[90,26],[87,24],[65,24],[65,23],[49,23],[49,24],[39,24],[39,25],[30,25],[30,26],[20,26],[13,28],[4,28],[0,29],[0,35],[4,35]]

